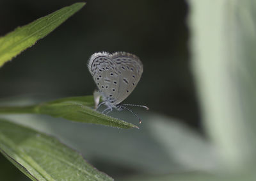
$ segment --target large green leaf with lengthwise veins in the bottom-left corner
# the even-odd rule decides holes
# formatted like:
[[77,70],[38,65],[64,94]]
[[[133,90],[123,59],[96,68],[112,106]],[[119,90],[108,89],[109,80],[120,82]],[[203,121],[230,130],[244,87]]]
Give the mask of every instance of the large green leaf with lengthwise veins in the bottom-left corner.
[[3,119],[0,152],[31,180],[113,180],[58,139]]

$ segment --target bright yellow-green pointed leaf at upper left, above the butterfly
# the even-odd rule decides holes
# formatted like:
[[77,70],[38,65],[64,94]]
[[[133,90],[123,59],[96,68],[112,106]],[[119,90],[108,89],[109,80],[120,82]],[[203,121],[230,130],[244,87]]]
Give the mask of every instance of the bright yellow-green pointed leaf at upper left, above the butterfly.
[[31,47],[41,38],[60,26],[71,15],[80,10],[85,3],[75,3],[61,8],[45,17],[35,20],[26,26],[19,27],[0,38],[0,67],[6,61]]

